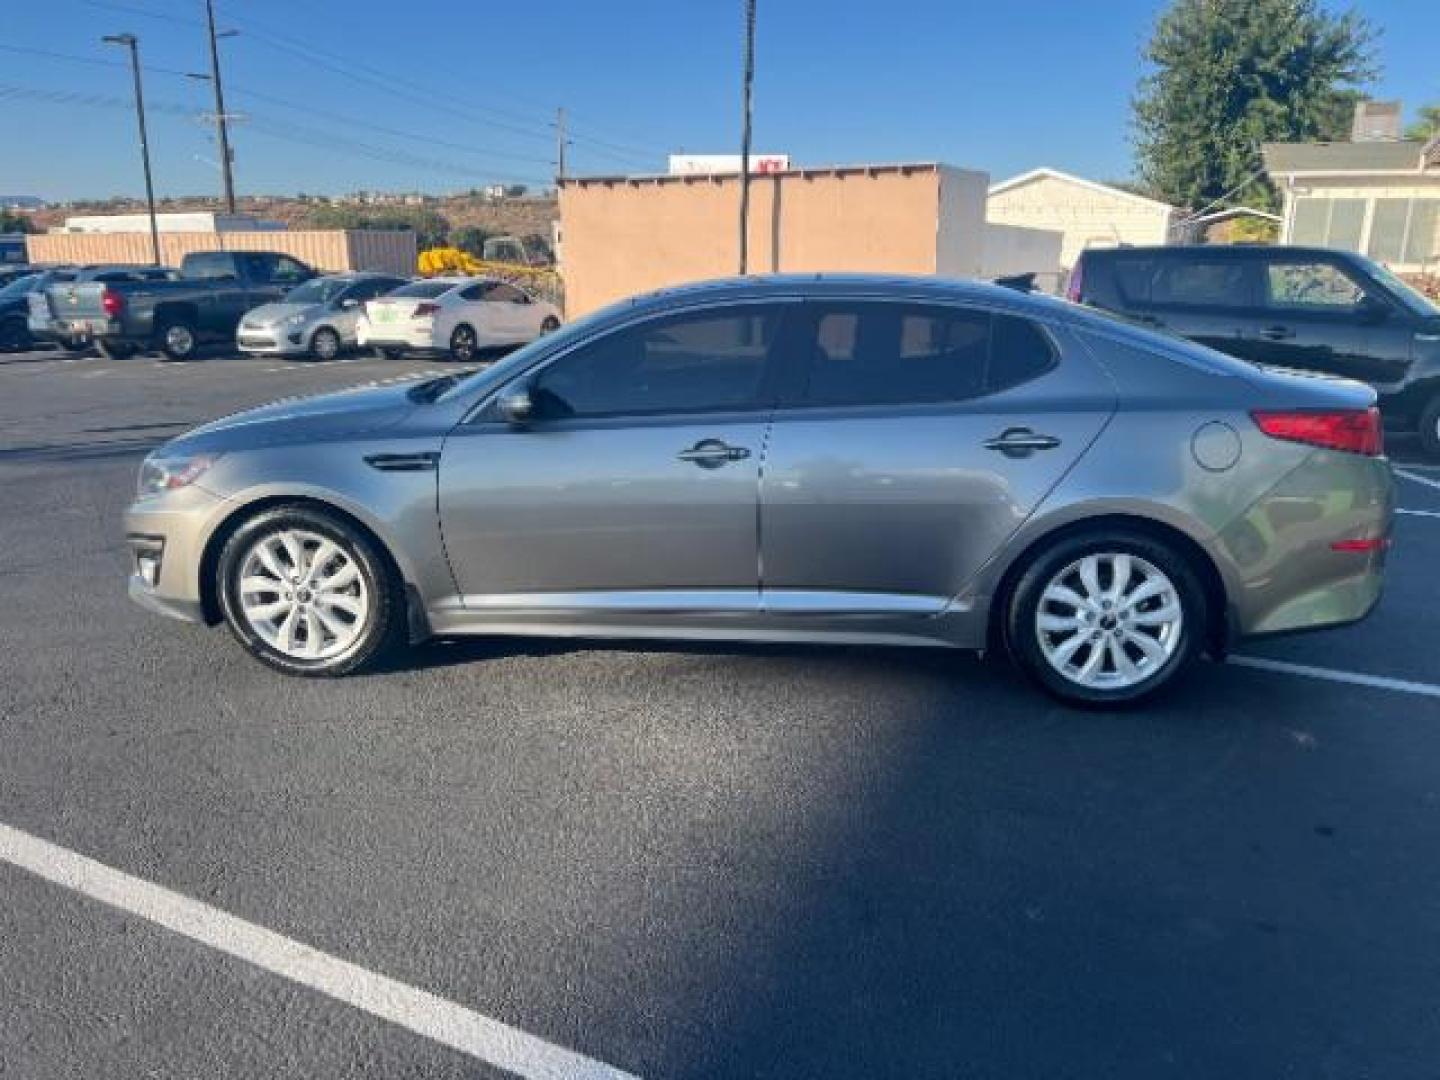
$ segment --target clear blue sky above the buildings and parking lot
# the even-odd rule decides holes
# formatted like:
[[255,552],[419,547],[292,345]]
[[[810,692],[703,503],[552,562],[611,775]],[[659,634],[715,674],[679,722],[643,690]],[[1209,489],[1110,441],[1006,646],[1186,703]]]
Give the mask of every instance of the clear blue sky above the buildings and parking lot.
[[[1129,98],[1159,0],[759,0],[756,148],[801,164],[942,160],[999,179],[1129,176]],[[1440,3],[1365,0],[1378,96],[1440,101]],[[740,0],[219,0],[245,193],[547,181],[737,148]],[[138,194],[124,55],[141,37],[161,194],[219,186],[202,0],[7,0],[0,193]],[[10,50],[6,50],[9,48]],[[35,52],[89,58],[81,63]],[[168,69],[166,73],[158,69]]]

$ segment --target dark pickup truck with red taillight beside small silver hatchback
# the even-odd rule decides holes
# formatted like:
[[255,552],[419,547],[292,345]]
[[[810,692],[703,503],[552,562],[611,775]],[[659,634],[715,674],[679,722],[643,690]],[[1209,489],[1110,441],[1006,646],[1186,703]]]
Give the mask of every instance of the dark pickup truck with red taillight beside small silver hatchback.
[[315,276],[289,255],[207,251],[186,255],[173,281],[53,285],[46,291],[56,330],[94,341],[107,356],[158,348],[189,360],[204,341],[233,341],[240,317]]

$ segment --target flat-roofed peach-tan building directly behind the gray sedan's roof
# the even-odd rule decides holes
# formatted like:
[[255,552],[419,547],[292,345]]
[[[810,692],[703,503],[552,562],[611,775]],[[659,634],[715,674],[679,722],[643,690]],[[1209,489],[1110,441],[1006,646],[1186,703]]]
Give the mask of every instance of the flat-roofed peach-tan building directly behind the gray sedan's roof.
[[[984,220],[984,174],[953,189],[956,238]],[[979,177],[978,180],[973,177]],[[968,193],[968,194],[966,194]],[[963,204],[965,199],[969,204]],[[739,265],[736,176],[567,180],[560,187],[566,315],[690,281],[730,276]],[[750,184],[753,274],[940,268],[942,170],[932,164],[792,170]],[[949,226],[946,226],[949,228]],[[979,268],[955,242],[956,265]],[[960,269],[959,272],[965,272]]]

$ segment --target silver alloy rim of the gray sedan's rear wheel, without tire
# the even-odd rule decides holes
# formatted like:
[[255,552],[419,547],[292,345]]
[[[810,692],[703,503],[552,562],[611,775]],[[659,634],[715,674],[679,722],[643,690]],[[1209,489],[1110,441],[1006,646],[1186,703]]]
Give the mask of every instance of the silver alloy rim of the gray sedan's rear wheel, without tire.
[[1090,690],[1125,690],[1161,671],[1185,625],[1175,583],[1119,552],[1086,554],[1054,575],[1035,608],[1045,661]]

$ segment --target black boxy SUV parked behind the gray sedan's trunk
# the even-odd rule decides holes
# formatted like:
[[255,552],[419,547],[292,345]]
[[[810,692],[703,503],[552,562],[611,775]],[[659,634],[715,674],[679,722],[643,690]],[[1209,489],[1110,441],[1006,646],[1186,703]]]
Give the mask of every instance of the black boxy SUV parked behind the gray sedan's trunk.
[[1094,249],[1081,252],[1067,295],[1241,360],[1369,383],[1385,425],[1440,454],[1440,308],[1364,255]]

